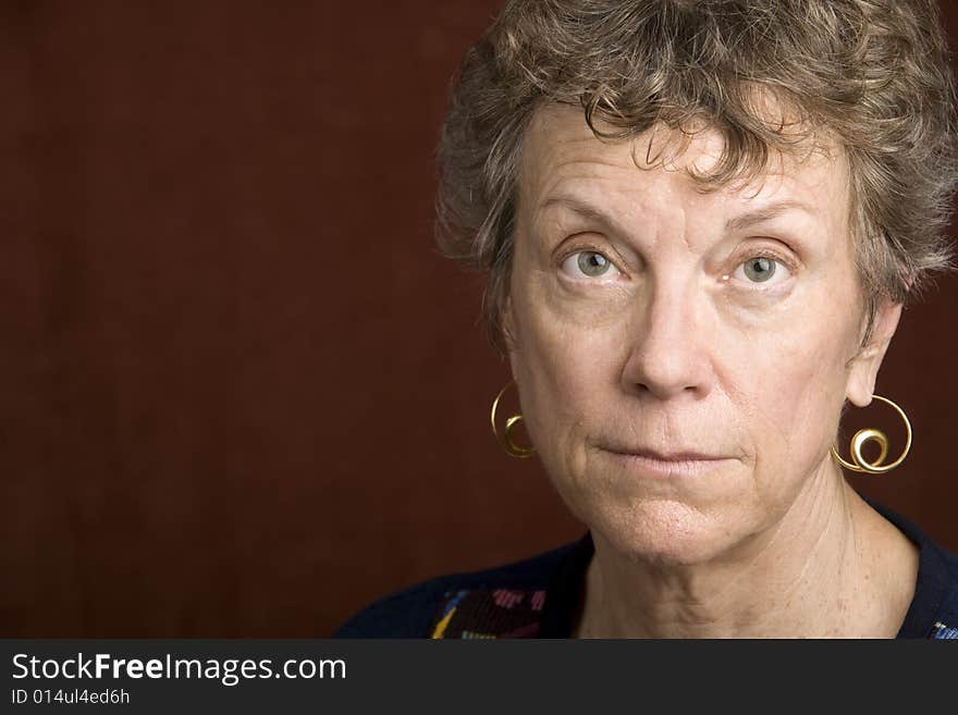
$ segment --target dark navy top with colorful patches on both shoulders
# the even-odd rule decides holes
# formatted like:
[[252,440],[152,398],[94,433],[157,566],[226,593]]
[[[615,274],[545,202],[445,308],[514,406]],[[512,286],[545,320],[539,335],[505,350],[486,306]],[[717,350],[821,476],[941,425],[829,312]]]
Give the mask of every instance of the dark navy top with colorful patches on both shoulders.
[[[958,556],[869,502],[919,547],[914,597],[898,638],[958,639]],[[569,638],[592,537],[507,566],[425,581],[377,601],[334,638]]]

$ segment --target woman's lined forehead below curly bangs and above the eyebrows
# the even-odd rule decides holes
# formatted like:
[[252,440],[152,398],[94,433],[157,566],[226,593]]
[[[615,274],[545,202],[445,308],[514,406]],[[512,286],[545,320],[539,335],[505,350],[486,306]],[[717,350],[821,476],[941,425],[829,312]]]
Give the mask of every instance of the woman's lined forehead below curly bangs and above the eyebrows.
[[[814,144],[812,144],[814,141]],[[828,137],[813,136],[794,151],[769,151],[757,173],[708,186],[693,175],[708,175],[718,165],[725,144],[708,126],[691,134],[656,126],[630,139],[600,139],[579,108],[539,108],[523,144],[519,171],[520,208],[537,208],[566,190],[610,198],[623,194],[681,200],[734,210],[763,200],[795,200],[823,212],[847,214],[848,170],[845,152]]]

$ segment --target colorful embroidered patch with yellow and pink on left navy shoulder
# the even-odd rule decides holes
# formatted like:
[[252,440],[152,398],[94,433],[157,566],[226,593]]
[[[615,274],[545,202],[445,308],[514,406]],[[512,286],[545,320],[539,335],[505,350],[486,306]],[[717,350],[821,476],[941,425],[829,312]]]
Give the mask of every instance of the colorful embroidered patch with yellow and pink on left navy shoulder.
[[447,591],[431,638],[532,638],[544,603],[544,589]]

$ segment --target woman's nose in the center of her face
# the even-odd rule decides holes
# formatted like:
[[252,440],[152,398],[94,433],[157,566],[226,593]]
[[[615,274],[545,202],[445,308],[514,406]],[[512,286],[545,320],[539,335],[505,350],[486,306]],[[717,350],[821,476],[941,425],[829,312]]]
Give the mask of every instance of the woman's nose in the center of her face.
[[629,326],[623,387],[659,399],[700,399],[714,383],[708,308],[695,281],[648,286]]

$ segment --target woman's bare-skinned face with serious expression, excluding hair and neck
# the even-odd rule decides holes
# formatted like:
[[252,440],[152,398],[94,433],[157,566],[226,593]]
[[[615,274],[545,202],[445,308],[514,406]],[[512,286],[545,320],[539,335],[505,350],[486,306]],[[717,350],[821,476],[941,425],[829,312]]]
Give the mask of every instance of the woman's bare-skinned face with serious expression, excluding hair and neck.
[[[646,146],[537,112],[504,320],[568,506],[623,553],[692,564],[834,484],[843,402],[868,403],[886,342],[860,350],[842,152],[702,193],[685,169],[713,165],[716,134],[666,168],[636,167]],[[881,309],[879,342],[897,317]]]

